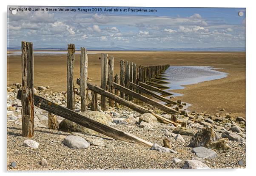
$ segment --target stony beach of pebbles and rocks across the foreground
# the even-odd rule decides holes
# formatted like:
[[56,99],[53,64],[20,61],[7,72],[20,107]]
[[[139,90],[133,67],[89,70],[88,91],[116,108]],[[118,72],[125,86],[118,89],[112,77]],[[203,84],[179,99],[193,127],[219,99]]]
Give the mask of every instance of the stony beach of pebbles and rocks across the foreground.
[[[102,124],[136,135],[154,145],[141,146],[114,140],[57,116],[59,129],[48,129],[48,112],[34,109],[34,137],[22,137],[21,105],[16,98],[19,83],[7,87],[7,170],[87,170],[87,169],[187,169],[245,168],[244,117],[224,108],[215,114],[185,112],[167,114],[148,104],[142,107],[175,120],[181,126],[159,123],[150,113],[139,114],[127,107],[103,112],[80,112],[80,96],[75,95],[75,111]],[[38,96],[66,107],[65,92],[49,86],[34,88]],[[90,91],[88,93],[91,95]],[[18,105],[18,106],[12,106]],[[100,105],[100,96],[98,97]]]

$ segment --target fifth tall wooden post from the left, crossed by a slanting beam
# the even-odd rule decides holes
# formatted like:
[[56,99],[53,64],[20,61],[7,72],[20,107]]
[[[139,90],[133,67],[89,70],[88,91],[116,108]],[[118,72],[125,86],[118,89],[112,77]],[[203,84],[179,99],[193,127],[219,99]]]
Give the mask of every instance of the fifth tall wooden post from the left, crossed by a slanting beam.
[[[108,91],[114,93],[114,57],[109,56],[108,58]],[[109,106],[114,107],[114,100],[108,99]]]

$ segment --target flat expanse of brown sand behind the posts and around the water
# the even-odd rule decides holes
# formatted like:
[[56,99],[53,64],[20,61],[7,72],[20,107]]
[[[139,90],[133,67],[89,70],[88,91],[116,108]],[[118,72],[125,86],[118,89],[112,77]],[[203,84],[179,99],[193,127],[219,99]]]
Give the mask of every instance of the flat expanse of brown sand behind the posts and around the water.
[[[222,68],[228,77],[186,85],[177,97],[182,102],[193,104],[189,110],[209,113],[232,113],[245,117],[245,52],[148,52],[148,51],[90,51],[88,55],[88,78],[100,84],[100,53],[114,56],[114,72],[119,74],[121,59],[142,66],[170,64],[174,66],[212,66]],[[90,53],[89,52],[89,53]],[[66,55],[34,55],[34,85],[47,86],[54,91],[66,90]],[[80,55],[75,55],[74,80],[80,77]],[[7,85],[21,82],[20,55],[9,55],[7,60]],[[78,87],[78,85],[75,85]],[[221,112],[224,108],[226,111]]]

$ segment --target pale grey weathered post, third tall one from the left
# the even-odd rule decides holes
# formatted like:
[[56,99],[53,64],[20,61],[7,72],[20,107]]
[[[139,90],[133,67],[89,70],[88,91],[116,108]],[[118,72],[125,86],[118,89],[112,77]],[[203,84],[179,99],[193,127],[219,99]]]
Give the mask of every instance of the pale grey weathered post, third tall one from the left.
[[88,90],[87,90],[87,78],[88,78],[88,56],[87,50],[81,47],[80,55],[80,96],[81,96],[81,111],[88,110]]

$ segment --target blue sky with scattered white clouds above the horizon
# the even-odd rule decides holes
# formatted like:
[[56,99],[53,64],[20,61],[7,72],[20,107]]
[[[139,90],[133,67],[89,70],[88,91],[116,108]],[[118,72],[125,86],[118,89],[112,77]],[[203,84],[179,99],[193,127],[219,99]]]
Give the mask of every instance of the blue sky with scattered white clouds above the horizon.
[[[17,11],[10,8],[43,8]],[[57,11],[46,11],[46,8]],[[76,11],[59,11],[59,8]],[[77,9],[97,11],[77,11]],[[121,12],[104,11],[119,8]],[[31,41],[34,48],[80,47],[210,48],[245,47],[245,8],[7,7],[8,47]],[[98,9],[101,9],[99,11]],[[140,9],[140,7],[132,7]],[[238,12],[242,11],[243,16]]]

